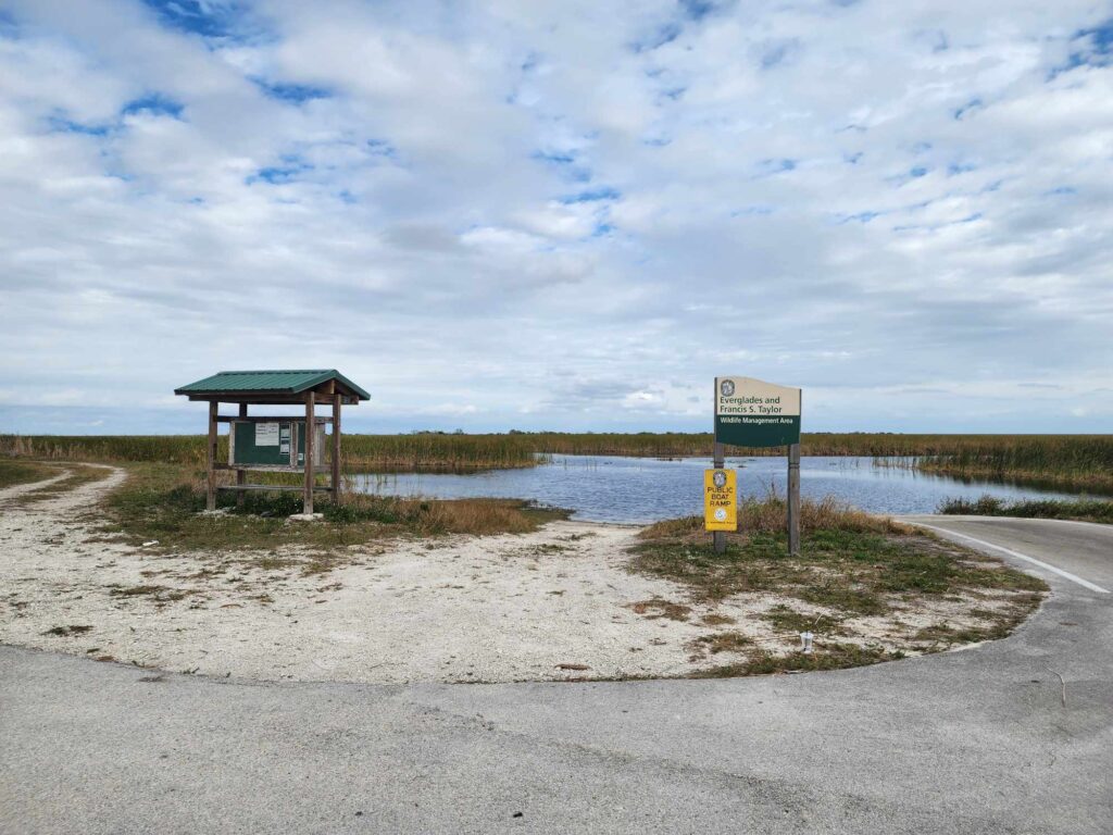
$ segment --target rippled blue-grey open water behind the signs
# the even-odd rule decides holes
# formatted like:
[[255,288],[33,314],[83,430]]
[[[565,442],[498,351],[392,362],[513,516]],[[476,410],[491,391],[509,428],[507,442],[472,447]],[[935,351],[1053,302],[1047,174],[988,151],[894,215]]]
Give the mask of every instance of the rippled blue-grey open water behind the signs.
[[[551,464],[523,470],[492,470],[470,475],[397,473],[357,477],[358,489],[382,495],[431,499],[513,498],[573,511],[593,522],[646,524],[702,513],[706,458],[660,461],[612,455],[555,455]],[[765,497],[770,485],[785,494],[785,458],[727,459],[738,469],[738,491]],[[1063,499],[1034,488],[986,481],[961,481],[904,468],[875,466],[871,458],[801,458],[800,494],[835,497],[873,513],[932,513],[944,499]]]

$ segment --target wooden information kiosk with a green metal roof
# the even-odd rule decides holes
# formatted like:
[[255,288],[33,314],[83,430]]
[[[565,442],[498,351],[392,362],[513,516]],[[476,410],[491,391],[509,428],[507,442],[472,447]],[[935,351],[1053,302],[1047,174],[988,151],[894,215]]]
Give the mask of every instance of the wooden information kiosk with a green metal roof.
[[[189,400],[209,404],[208,492],[205,507],[216,510],[217,490],[238,490],[243,503],[245,490],[301,490],[304,512],[313,513],[313,493],[324,490],[341,499],[341,409],[358,405],[371,395],[335,369],[316,371],[221,371],[196,383],[174,390]],[[235,416],[220,414],[221,403],[239,407]],[[305,416],[248,414],[252,405],[305,405]],[[331,405],[332,415],[317,416],[318,404]],[[219,424],[227,423],[228,462],[218,462],[217,436]],[[333,424],[332,452],[328,460],[329,484],[317,484],[316,473],[325,466],[325,425]],[[309,428],[309,429],[307,429]],[[216,473],[233,470],[236,483],[217,485]],[[302,487],[279,484],[249,484],[252,470],[272,472],[302,472]]]

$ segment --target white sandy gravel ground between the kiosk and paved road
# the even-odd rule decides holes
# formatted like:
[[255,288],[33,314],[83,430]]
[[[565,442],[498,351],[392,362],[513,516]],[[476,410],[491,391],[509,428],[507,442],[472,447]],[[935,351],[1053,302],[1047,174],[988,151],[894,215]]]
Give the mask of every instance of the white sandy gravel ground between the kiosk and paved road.
[[[693,650],[700,636],[738,631],[782,652],[798,646],[798,636],[757,616],[778,602],[823,612],[756,595],[691,605],[682,587],[626,569],[638,529],[613,524],[561,521],[529,534],[370,543],[347,549],[341,567],[312,574],[311,554],[293,549],[135,548],[97,532],[91,511],[126,477],[109,469],[100,481],[37,502],[27,499],[48,482],[0,491],[0,642],[267,680],[680,676],[740,660]],[[283,564],[260,567],[264,558]],[[160,588],[119,593],[152,586]],[[691,605],[688,620],[636,606],[654,598]],[[907,651],[920,627],[973,625],[971,608],[1007,601],[998,593],[859,618],[843,625],[850,637],[837,639]],[[702,625],[711,612],[737,622]],[[49,633],[56,627],[90,628]]]

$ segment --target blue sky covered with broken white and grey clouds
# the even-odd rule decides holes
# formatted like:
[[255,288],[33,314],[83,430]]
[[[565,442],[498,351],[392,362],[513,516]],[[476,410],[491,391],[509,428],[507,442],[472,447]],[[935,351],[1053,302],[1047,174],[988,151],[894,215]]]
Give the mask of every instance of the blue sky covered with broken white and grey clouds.
[[0,432],[1109,432],[1113,3],[0,0]]

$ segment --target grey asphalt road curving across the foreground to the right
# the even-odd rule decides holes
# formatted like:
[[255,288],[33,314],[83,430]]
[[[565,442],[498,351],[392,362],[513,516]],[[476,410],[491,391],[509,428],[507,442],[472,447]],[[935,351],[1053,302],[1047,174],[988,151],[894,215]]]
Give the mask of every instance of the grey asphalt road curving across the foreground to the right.
[[[922,521],[1113,589],[1113,528]],[[1054,590],[1008,639],[801,676],[250,684],[0,647],[0,832],[1113,832],[1113,595],[1005,558]]]

